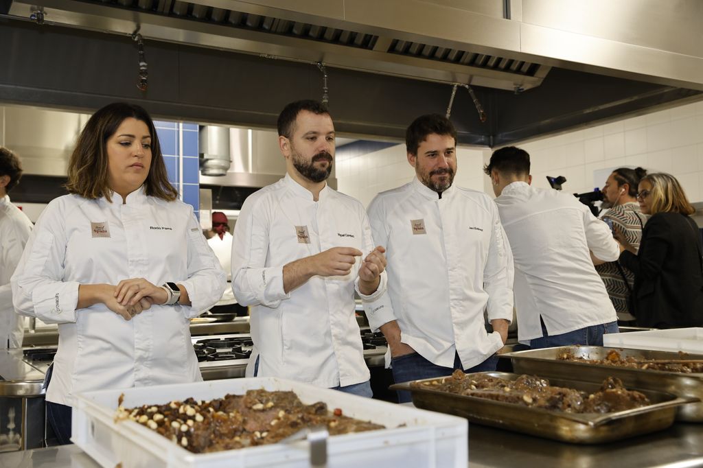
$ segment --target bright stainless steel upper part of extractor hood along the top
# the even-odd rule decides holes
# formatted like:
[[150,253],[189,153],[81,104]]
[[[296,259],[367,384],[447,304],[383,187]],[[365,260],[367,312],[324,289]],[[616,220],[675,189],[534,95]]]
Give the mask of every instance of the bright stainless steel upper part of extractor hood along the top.
[[551,66],[703,90],[696,0],[13,0],[8,15],[506,90]]

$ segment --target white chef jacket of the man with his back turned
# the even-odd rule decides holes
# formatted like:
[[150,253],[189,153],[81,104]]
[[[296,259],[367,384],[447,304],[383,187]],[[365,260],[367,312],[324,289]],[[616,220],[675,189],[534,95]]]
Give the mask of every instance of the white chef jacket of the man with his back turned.
[[550,336],[617,320],[589,250],[618,259],[607,224],[573,195],[513,182],[496,198],[515,257],[517,338]]

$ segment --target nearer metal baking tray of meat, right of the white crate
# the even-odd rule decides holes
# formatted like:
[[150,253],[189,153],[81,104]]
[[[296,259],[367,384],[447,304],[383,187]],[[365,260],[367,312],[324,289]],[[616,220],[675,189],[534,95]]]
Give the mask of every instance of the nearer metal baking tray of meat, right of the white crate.
[[[510,372],[477,372],[479,374],[515,380],[519,374]],[[540,376],[543,377],[543,376]],[[422,379],[425,382],[435,379]],[[567,379],[549,379],[553,386],[564,386],[593,393],[602,382],[581,382]],[[394,384],[394,390],[410,391],[417,408],[465,417],[470,422],[551,438],[571,443],[604,443],[666,429],[673,424],[676,408],[697,398],[678,397],[659,391],[642,390],[652,405],[633,410],[600,413],[569,413],[543,408],[530,408],[515,403],[493,401],[477,396],[450,394],[411,382]],[[631,389],[628,387],[628,389]]]

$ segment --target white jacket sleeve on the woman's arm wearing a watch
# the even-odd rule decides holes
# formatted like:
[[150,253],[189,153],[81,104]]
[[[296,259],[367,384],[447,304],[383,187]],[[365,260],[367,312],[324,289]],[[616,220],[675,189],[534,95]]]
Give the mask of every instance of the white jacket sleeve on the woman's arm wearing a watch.
[[191,299],[191,306],[183,306],[188,318],[198,316],[217,304],[227,287],[227,275],[207,245],[192,212],[188,221],[188,279],[179,282]]

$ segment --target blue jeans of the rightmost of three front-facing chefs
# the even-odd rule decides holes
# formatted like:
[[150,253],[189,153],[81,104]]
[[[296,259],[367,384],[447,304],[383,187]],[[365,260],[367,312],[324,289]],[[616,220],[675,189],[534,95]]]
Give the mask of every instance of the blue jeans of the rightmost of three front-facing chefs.
[[[459,355],[454,355],[454,367],[444,368],[441,365],[433,364],[429,360],[423,358],[418,353],[404,354],[397,358],[391,359],[393,370],[393,379],[396,383],[409,382],[419,379],[433,379],[436,377],[446,377],[451,375],[457,369],[464,372],[486,372],[496,370],[498,365],[498,356],[495,354],[490,356],[484,362],[475,365],[470,369],[463,369]],[[407,403],[413,401],[409,391],[398,392],[398,403]]]

